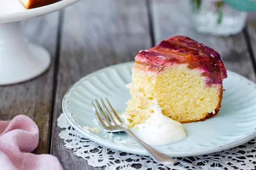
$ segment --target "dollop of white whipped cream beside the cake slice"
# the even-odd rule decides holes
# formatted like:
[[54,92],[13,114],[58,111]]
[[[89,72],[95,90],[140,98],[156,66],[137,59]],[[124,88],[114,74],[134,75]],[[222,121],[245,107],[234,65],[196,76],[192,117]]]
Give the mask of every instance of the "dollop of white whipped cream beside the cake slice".
[[137,125],[135,134],[150,145],[164,145],[183,140],[187,134],[183,125],[162,114],[162,108],[154,99],[154,114],[143,124]]

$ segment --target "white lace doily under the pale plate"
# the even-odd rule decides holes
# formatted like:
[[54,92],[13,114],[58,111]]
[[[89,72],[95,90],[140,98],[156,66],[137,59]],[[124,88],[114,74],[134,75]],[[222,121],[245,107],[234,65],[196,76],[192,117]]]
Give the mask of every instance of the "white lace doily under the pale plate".
[[251,140],[236,148],[228,149],[210,155],[197,157],[183,157],[175,166],[164,166],[154,162],[150,157],[123,153],[111,150],[92,142],[79,134],[67,122],[65,115],[58,118],[58,126],[65,128],[59,134],[64,140],[64,146],[73,150],[74,155],[88,161],[92,167],[103,167],[106,169],[255,169],[256,167],[256,140]]

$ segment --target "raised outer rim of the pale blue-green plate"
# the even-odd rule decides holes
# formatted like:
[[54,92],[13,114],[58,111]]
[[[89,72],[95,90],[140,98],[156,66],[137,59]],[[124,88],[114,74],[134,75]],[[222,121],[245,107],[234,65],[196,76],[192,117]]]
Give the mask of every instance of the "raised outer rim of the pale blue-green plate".
[[[96,135],[92,134],[88,130],[85,130],[84,128],[82,128],[81,125],[77,124],[76,120],[72,118],[73,114],[71,114],[67,110],[67,108],[68,108],[67,103],[68,103],[69,93],[73,90],[73,88],[75,88],[77,85],[82,83],[82,81],[85,81],[86,79],[89,79],[93,75],[96,75],[97,73],[100,73],[104,70],[111,69],[113,67],[119,67],[120,65],[134,65],[134,63],[135,62],[132,61],[132,62],[122,62],[122,63],[119,63],[117,65],[110,65],[108,67],[98,69],[97,71],[94,71],[94,72],[82,77],[81,79],[79,79],[78,81],[73,83],[73,85],[71,85],[67,89],[67,91],[66,91],[66,93],[63,97],[63,101],[62,101],[62,109],[63,109],[63,113],[64,113],[65,117],[67,118],[67,121],[71,124],[71,126],[73,128],[75,128],[75,130],[77,130],[80,134],[86,136],[86,138],[89,138],[90,140],[92,140],[92,141],[94,141],[94,142],[96,142],[96,143],[98,143],[102,146],[105,146],[107,148],[122,151],[122,152],[125,152],[125,153],[132,153],[132,154],[136,154],[136,155],[149,156],[147,151],[145,151],[143,148],[129,148],[129,147],[123,145],[123,144],[122,144],[123,146],[121,144],[117,145],[117,144],[115,144],[114,142],[112,142],[110,140],[102,139],[98,136],[96,137]],[[256,88],[256,84],[253,81],[247,79],[246,77],[243,77],[242,75],[239,75],[238,73],[234,73],[233,71],[229,71],[229,70],[227,70],[227,71],[228,71],[228,73],[231,73],[231,74],[237,76],[238,78],[247,81],[247,83],[249,83],[249,85],[254,85],[255,88]],[[68,114],[71,115],[71,118],[69,118]],[[180,152],[179,151],[166,151],[166,152],[162,152],[162,153],[164,153],[164,154],[166,154],[170,157],[191,157],[191,156],[217,153],[217,152],[229,149],[229,148],[234,148],[234,147],[239,146],[241,144],[245,144],[246,142],[249,142],[250,140],[252,140],[255,137],[256,137],[256,128],[248,136],[245,136],[244,138],[241,138],[241,139],[236,140],[234,142],[226,143],[226,144],[223,144],[223,145],[220,145],[220,146],[210,146],[210,147],[207,147],[205,149],[191,150],[191,151],[180,151]],[[157,148],[158,146],[154,146],[154,147]]]

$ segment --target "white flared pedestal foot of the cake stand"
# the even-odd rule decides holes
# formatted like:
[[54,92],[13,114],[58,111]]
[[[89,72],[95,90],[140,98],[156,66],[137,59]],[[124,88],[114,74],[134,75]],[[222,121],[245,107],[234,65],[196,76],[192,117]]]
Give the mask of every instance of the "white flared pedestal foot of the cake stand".
[[51,56],[22,36],[20,22],[0,24],[0,85],[32,79],[49,67]]

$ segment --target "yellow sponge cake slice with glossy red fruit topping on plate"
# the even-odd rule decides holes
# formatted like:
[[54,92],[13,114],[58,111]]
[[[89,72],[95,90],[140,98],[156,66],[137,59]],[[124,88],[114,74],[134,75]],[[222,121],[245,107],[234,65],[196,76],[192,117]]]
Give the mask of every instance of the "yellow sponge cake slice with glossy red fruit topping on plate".
[[130,127],[150,118],[155,99],[162,114],[181,123],[205,120],[220,110],[227,77],[220,54],[191,38],[174,36],[140,51],[132,71],[125,112]]

